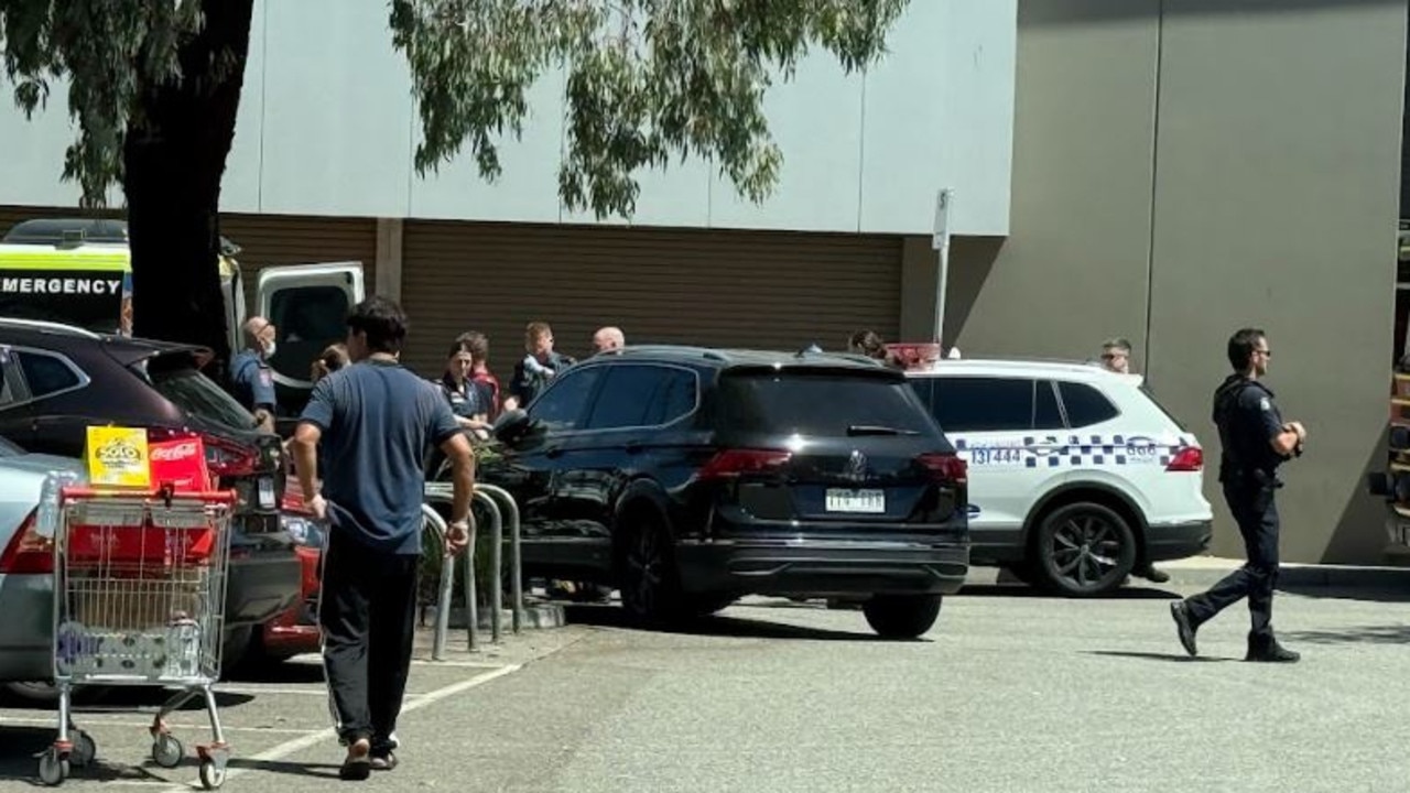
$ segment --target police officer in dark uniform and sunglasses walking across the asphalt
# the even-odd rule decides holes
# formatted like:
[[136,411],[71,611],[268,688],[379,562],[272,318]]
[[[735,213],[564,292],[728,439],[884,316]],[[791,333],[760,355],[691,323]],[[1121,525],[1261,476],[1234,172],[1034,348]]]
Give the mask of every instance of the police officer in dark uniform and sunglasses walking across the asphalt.
[[1180,643],[1197,653],[1194,632],[1224,608],[1248,598],[1253,626],[1245,660],[1296,662],[1273,636],[1273,587],[1277,584],[1277,507],[1275,491],[1283,485],[1277,467],[1301,456],[1307,432],[1299,422],[1285,422],[1273,392],[1259,378],[1273,356],[1262,330],[1245,327],[1230,337],[1231,374],[1214,392],[1214,423],[1220,428],[1220,483],[1224,500],[1238,522],[1248,563],[1207,593],[1170,604]]

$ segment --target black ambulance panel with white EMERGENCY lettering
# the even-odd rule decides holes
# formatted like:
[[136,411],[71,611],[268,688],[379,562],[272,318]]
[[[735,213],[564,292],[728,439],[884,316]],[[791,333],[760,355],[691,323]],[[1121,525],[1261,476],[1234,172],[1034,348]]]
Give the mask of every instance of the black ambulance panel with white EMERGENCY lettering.
[[78,325],[114,333],[121,323],[123,274],[111,270],[0,272],[0,316]]

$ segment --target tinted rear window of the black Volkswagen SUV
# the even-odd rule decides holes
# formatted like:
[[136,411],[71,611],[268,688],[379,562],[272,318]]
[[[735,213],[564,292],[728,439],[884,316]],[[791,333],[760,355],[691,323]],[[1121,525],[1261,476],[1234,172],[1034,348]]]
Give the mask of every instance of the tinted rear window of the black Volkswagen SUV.
[[719,389],[721,423],[729,429],[940,437],[904,380],[829,370],[739,371],[721,377]]

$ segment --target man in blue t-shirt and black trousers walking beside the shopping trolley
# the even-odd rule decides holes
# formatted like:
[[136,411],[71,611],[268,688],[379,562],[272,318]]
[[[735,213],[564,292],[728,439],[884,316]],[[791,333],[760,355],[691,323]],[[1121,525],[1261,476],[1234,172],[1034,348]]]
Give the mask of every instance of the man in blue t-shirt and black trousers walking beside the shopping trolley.
[[[470,542],[470,442],[436,387],[402,368],[406,326],[392,301],[360,303],[348,317],[354,363],[319,381],[293,437],[305,500],[331,526],[319,624],[338,737],[348,746],[344,779],[396,765],[396,718],[416,626],[422,463],[430,446],[454,468],[446,550],[460,553]],[[326,471],[317,470],[320,459]]]

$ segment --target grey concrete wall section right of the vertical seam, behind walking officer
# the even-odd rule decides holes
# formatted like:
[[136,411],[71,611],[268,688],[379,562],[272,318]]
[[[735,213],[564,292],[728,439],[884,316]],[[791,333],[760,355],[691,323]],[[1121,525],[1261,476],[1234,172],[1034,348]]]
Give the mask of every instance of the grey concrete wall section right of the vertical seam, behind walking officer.
[[1269,381],[1316,433],[1287,466],[1290,559],[1375,559],[1385,542],[1362,483],[1387,419],[1404,24],[1403,1],[1165,14],[1151,377],[1207,425],[1228,334],[1268,330]]

